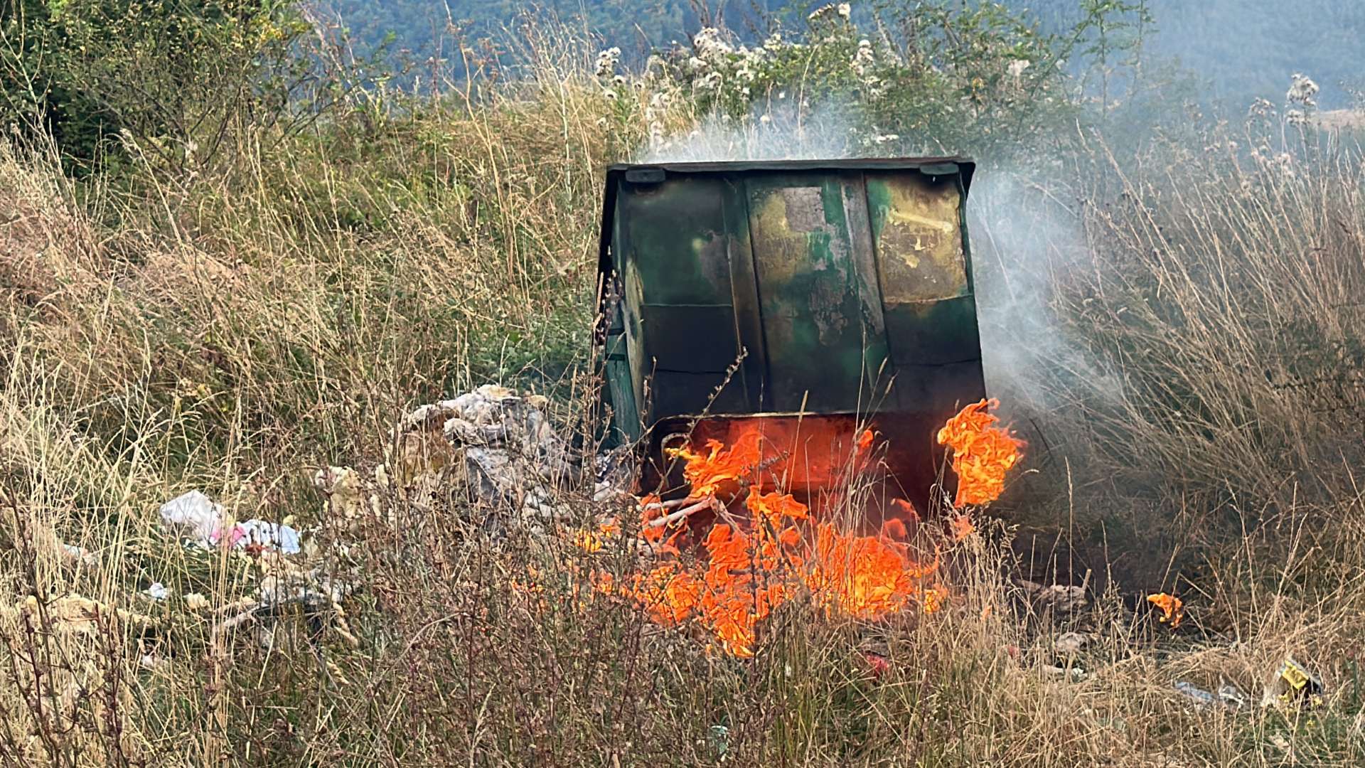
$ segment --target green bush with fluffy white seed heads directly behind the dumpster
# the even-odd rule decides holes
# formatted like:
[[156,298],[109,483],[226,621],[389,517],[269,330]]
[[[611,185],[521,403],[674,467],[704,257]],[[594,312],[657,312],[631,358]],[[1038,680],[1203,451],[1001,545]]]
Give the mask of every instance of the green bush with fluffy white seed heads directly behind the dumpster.
[[[1024,157],[1088,119],[1067,60],[1121,68],[1140,41],[1115,30],[1133,12],[1093,4],[1073,27],[1043,33],[996,3],[894,4],[861,23],[839,3],[752,46],[706,27],[646,64],[652,148],[672,146],[663,115],[681,108],[726,130],[756,130],[749,154],[779,154],[812,137],[808,146],[827,154]],[[1096,36],[1102,42],[1089,42]],[[618,57],[612,49],[598,60],[613,98],[625,83],[613,78]]]

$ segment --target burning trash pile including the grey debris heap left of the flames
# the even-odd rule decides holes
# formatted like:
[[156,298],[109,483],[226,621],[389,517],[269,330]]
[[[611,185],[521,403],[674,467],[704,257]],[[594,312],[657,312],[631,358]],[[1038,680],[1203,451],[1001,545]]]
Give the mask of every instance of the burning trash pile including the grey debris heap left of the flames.
[[[384,500],[392,500],[386,489],[394,486],[420,502],[415,508],[433,508],[438,496],[457,492],[541,540],[562,533],[568,551],[583,555],[564,563],[579,585],[579,603],[624,600],[655,625],[696,629],[713,646],[740,657],[755,653],[764,619],[789,600],[809,599],[829,615],[871,619],[906,609],[932,614],[949,599],[939,552],[924,552],[916,541],[921,521],[909,502],[891,500],[885,522],[860,530],[868,521],[861,512],[846,514],[848,489],[812,482],[842,474],[848,485],[872,473],[886,444],[878,445],[871,429],[846,433],[852,422],[841,422],[845,433],[824,443],[803,433],[808,445],[820,448],[799,458],[789,451],[793,432],[822,428],[753,422],[719,433],[723,440],[698,437],[704,432],[699,429],[665,451],[681,465],[680,488],[632,496],[628,481],[598,477],[591,504],[625,504],[575,529],[568,523],[572,508],[590,503],[588,496],[573,504],[564,491],[592,473],[583,471],[588,462],[554,433],[545,404],[486,385],[416,409],[399,426],[392,463],[377,469],[373,481],[347,467],[318,473],[332,525],[379,515]],[[987,413],[991,406],[968,406],[938,435],[957,476],[956,503],[945,515],[950,541],[972,534],[968,508],[994,502],[1021,458],[1022,443]],[[620,456],[613,456],[605,463],[618,465]],[[848,466],[837,467],[841,462]],[[835,519],[844,517],[857,522]],[[625,573],[607,573],[606,558],[622,551],[629,558]],[[539,594],[541,575],[549,574],[528,573],[513,586]]]

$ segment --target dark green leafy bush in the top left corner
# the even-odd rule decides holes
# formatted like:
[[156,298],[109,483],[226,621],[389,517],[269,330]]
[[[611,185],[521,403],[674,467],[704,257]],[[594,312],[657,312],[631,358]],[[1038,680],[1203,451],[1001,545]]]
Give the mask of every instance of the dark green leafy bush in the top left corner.
[[203,169],[244,123],[315,107],[311,29],[292,1],[5,0],[0,120],[86,169],[126,153]]

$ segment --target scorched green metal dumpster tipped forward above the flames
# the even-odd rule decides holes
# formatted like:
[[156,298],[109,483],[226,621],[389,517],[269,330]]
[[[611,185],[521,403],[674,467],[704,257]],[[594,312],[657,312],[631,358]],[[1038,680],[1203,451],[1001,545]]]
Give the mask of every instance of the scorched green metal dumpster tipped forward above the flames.
[[932,473],[934,430],[986,389],[964,210],[973,168],[609,168],[599,342],[613,436],[755,414],[875,417],[910,441],[913,476]]

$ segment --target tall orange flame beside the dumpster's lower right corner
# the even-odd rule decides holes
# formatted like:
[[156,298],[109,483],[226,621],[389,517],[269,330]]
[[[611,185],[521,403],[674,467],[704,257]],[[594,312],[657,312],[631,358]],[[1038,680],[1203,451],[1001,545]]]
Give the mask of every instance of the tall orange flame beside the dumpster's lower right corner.
[[986,413],[999,407],[999,400],[981,400],[962,409],[939,429],[940,445],[953,448],[953,471],[957,473],[956,506],[984,506],[1001,497],[1005,473],[1022,458],[1024,441],[1017,440],[999,421]]

